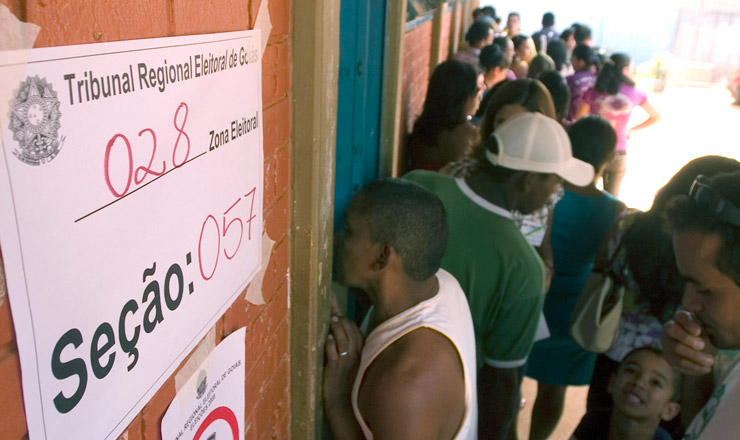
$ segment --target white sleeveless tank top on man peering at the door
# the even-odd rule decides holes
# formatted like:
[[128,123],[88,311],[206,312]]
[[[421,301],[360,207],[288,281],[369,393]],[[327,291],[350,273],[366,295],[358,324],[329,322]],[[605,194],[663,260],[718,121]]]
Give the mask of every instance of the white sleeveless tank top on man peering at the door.
[[468,300],[455,277],[440,269],[437,272],[437,279],[439,292],[434,297],[383,322],[365,340],[360,367],[352,387],[352,410],[367,439],[372,439],[373,433],[362,418],[357,403],[365,370],[389,345],[419,328],[430,328],[443,334],[457,349],[465,375],[465,412],[462,424],[453,438],[456,440],[478,438],[477,364],[473,318],[470,315]]

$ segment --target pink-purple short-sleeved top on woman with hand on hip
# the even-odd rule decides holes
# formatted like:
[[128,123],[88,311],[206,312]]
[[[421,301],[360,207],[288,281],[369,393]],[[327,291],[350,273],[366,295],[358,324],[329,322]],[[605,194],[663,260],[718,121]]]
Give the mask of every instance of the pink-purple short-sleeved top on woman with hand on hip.
[[627,124],[632,110],[647,101],[645,92],[622,83],[616,95],[591,89],[583,95],[583,100],[591,106],[592,115],[599,115],[611,122],[617,132],[617,151],[627,151]]

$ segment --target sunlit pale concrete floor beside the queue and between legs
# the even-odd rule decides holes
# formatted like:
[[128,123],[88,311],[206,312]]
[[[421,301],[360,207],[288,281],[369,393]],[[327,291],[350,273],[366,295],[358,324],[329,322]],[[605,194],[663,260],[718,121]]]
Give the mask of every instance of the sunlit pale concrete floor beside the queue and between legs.
[[[648,91],[651,84],[638,83],[638,87]],[[722,86],[669,86],[664,93],[649,93],[648,100],[662,120],[631,136],[627,174],[620,190],[627,206],[641,210],[650,209],[655,193],[690,160],[710,154],[740,160],[740,107],[731,105],[732,97]],[[637,124],[645,117],[638,108],[631,122]],[[517,426],[520,440],[529,438],[536,393],[536,382],[525,379],[522,396],[526,404]],[[551,439],[570,438],[585,412],[587,394],[585,386],[568,389],[563,417]]]

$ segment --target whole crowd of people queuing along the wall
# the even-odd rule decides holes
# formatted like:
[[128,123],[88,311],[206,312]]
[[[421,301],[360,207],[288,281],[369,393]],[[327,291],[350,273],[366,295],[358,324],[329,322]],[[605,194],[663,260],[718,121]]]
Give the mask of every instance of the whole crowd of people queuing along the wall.
[[[660,119],[627,54],[555,16],[521,33],[478,9],[438,65],[409,137],[411,172],[363,188],[337,232],[324,410],[337,439],[549,438],[590,385],[575,439],[725,439],[740,422],[740,163],[695,159],[647,212],[618,199],[631,131]],[[648,118],[630,126],[632,110]],[[603,179],[603,188],[600,181]],[[626,289],[611,348],[571,336],[593,272]]]

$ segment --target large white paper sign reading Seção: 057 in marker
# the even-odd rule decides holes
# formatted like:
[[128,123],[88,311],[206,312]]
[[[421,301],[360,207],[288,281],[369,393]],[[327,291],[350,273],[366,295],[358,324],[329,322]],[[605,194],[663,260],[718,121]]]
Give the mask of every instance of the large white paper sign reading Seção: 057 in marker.
[[0,245],[30,437],[112,439],[259,269],[259,32],[37,49],[14,84]]

